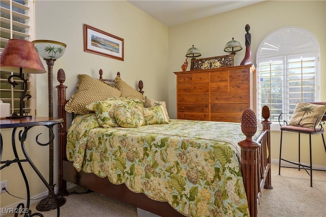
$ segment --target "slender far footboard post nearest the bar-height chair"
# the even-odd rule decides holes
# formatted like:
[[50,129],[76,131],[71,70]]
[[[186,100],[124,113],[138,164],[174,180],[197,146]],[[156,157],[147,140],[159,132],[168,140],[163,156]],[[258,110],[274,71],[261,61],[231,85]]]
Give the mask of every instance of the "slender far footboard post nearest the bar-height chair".
[[267,158],[267,167],[266,169],[268,169],[268,173],[267,173],[267,177],[265,180],[265,184],[264,184],[264,189],[274,189],[273,186],[271,186],[271,172],[270,172],[270,125],[271,125],[271,121],[268,121],[268,118],[270,116],[269,113],[269,108],[268,106],[264,106],[262,109],[262,116],[264,118],[264,120],[261,122],[263,125],[263,131],[267,131],[266,134],[266,142],[267,142],[267,148],[268,148],[268,158]]

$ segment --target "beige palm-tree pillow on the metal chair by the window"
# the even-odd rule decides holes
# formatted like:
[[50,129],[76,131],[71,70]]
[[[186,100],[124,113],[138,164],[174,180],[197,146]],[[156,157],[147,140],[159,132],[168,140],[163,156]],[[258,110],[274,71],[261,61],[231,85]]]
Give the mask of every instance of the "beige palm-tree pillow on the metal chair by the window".
[[[326,105],[297,102],[289,125],[314,128],[318,116],[325,114]],[[318,120],[320,121],[320,120]]]

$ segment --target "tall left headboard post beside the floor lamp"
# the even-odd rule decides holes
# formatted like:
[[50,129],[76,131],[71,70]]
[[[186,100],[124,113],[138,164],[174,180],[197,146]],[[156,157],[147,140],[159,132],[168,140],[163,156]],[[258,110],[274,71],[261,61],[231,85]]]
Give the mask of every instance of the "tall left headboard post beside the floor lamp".
[[56,86],[58,89],[58,117],[63,118],[64,122],[62,123],[62,128],[58,130],[58,148],[59,148],[59,162],[58,162],[58,187],[59,195],[67,195],[67,182],[63,179],[63,160],[66,159],[66,140],[67,140],[67,125],[66,125],[66,111],[65,105],[66,101],[66,88],[63,83],[66,80],[66,74],[63,69],[59,69],[57,79],[59,85]]

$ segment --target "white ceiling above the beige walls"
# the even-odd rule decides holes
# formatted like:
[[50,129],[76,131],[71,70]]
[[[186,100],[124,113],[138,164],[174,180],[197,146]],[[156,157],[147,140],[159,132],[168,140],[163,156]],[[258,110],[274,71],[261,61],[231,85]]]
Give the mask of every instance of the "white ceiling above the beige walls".
[[189,21],[201,19],[215,14],[231,11],[234,9],[246,7],[256,3],[263,2],[254,0],[240,1],[175,1],[175,0],[150,0],[139,1],[129,0],[131,4],[151,15],[158,21],[167,26],[174,26]]

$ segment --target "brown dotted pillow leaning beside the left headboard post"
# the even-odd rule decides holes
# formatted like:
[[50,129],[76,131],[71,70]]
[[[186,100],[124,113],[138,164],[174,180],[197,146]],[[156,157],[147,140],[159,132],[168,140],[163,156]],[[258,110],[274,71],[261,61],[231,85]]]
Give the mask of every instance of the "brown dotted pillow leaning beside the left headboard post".
[[87,114],[89,110],[86,109],[86,105],[110,97],[121,96],[121,91],[117,88],[89,75],[78,75],[78,79],[77,89],[65,106],[67,112]]

